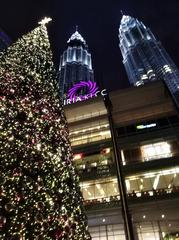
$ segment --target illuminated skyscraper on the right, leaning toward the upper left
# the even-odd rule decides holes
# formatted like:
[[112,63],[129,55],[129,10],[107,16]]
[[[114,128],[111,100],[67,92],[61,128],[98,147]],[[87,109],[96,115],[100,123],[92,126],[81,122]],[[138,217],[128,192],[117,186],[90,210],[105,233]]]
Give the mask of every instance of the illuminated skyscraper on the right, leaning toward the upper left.
[[150,29],[141,21],[123,15],[119,41],[130,83],[139,86],[164,80],[179,107],[179,69]]

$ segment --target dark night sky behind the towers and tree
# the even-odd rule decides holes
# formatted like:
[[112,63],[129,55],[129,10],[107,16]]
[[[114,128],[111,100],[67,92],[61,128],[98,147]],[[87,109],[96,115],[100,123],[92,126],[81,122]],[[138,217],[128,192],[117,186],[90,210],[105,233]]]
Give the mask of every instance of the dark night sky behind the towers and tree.
[[79,26],[92,54],[95,77],[108,90],[128,86],[118,47],[122,9],[150,27],[179,67],[179,0],[3,0],[0,28],[15,41],[37,26],[44,16],[56,68],[66,41]]

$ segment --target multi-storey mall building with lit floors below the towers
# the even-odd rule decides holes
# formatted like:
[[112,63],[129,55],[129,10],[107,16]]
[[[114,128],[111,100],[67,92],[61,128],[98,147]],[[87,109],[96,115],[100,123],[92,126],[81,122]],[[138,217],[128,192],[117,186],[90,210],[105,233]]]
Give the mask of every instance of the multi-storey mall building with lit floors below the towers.
[[[108,95],[135,239],[179,239],[179,115],[163,82]],[[65,106],[93,240],[125,240],[102,96]]]

